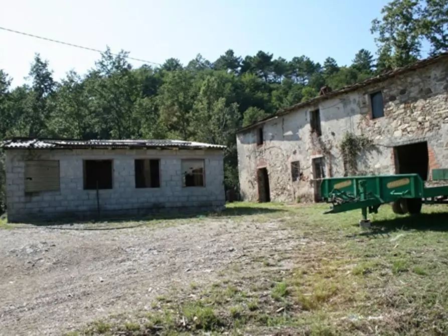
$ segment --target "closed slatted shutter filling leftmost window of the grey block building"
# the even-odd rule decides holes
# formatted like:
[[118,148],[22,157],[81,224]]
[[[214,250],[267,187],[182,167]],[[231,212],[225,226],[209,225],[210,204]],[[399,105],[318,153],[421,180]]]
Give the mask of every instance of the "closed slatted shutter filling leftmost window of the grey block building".
[[25,161],[25,192],[58,191],[59,161]]

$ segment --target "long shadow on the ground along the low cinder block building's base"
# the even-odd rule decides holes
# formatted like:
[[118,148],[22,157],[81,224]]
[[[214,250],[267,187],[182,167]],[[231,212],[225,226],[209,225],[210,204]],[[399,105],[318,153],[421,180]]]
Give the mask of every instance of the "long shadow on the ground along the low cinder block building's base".
[[[141,216],[117,216],[110,214],[108,216],[94,216],[89,219],[76,219],[73,217],[60,218],[58,220],[39,220],[36,219],[32,222],[22,222],[20,224],[32,225],[32,226],[71,226],[73,224],[91,224],[94,226],[102,225],[112,225],[109,229],[120,229],[120,228],[130,228],[137,227],[147,224],[151,221],[163,221],[163,220],[182,220],[182,219],[201,219],[201,218],[225,218],[225,217],[237,217],[237,216],[250,216],[250,215],[262,215],[276,212],[285,212],[282,209],[269,209],[262,207],[228,207],[221,211],[215,212],[195,212],[190,211],[179,212],[179,213],[169,213],[169,214],[152,214],[152,215],[141,215]],[[120,226],[120,224],[126,224]],[[14,223],[15,224],[15,223]],[[105,228],[103,228],[105,229]]]

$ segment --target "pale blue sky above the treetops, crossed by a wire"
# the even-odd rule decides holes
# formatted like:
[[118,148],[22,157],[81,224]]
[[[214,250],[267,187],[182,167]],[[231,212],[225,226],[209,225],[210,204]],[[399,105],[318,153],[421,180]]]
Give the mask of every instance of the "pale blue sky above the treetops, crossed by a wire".
[[[226,50],[259,50],[290,60],[348,65],[362,48],[376,51],[371,21],[389,0],[0,0],[0,27],[155,63],[198,53],[214,61]],[[100,54],[0,30],[0,69],[13,87],[26,83],[35,53],[60,80],[84,74]],[[138,67],[143,63],[130,61]]]

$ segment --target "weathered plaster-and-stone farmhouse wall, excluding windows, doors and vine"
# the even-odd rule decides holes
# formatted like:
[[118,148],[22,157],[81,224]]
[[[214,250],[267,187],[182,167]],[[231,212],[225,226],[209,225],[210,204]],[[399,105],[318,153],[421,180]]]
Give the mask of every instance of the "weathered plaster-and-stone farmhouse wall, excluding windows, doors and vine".
[[[369,95],[378,90],[383,93],[385,116],[372,119]],[[320,109],[321,137],[311,133],[310,114],[316,109]],[[258,200],[259,167],[268,171],[272,201],[313,200],[313,159],[323,157],[326,177],[343,176],[339,146],[346,132],[373,141],[356,158],[357,175],[395,174],[393,147],[418,141],[427,141],[430,169],[448,167],[448,61],[333,96],[262,126],[262,145],[256,144],[256,127],[237,134],[241,197],[248,201]],[[302,171],[298,182],[291,180],[295,160]]]

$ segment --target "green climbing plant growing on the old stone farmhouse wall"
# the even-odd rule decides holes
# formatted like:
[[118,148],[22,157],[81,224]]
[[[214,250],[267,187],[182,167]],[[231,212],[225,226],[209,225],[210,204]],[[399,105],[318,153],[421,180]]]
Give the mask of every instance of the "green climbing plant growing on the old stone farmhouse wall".
[[344,170],[346,175],[357,174],[357,157],[362,152],[373,145],[373,141],[365,135],[356,135],[346,132],[340,143],[340,149],[344,160]]

